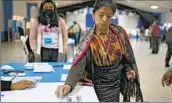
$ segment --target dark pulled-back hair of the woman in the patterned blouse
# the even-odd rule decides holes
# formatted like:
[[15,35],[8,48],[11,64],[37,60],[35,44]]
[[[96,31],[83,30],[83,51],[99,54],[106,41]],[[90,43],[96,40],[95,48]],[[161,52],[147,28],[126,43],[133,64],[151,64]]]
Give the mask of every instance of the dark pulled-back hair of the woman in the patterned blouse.
[[113,14],[116,11],[116,4],[112,0],[96,0],[93,5],[93,13],[96,12],[101,7],[110,7],[113,11]]

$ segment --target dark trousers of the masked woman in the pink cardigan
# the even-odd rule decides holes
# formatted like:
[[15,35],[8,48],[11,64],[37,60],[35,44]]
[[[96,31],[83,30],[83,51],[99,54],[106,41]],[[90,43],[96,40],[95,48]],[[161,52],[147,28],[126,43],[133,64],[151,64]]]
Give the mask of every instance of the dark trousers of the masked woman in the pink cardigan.
[[49,49],[41,47],[41,61],[42,62],[57,62],[58,49]]

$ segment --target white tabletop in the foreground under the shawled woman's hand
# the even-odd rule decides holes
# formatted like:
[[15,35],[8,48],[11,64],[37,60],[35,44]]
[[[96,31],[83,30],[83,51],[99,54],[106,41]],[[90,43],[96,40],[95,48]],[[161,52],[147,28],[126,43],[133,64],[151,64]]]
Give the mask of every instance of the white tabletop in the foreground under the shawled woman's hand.
[[[39,83],[37,88],[15,91],[1,91],[4,95],[1,102],[68,102],[72,97],[73,102],[77,102],[76,96],[81,96],[81,102],[99,102],[95,90],[90,86],[76,85],[74,90],[62,100],[56,97],[55,90],[64,82]],[[44,93],[44,94],[43,94]]]

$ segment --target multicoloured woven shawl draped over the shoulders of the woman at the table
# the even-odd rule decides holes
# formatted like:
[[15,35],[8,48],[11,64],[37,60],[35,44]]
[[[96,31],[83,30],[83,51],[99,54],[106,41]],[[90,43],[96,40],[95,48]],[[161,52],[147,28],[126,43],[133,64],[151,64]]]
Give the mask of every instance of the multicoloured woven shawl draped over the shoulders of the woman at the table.
[[[116,36],[119,38],[118,40],[120,42],[122,52],[123,52],[125,58],[127,59],[127,61],[129,62],[131,68],[136,73],[136,80],[135,80],[135,82],[133,82],[132,87],[130,88],[131,89],[130,91],[132,91],[131,93],[133,93],[133,94],[130,94],[129,96],[135,95],[136,102],[143,101],[143,96],[142,96],[142,92],[140,89],[138,68],[137,68],[136,60],[134,57],[134,53],[133,53],[128,35],[127,35],[126,31],[118,25],[111,25],[110,29],[113,32],[113,34],[116,34]],[[83,55],[89,49],[90,43],[93,38],[94,30],[95,30],[95,26],[93,26],[81,39],[81,42],[78,45],[77,53],[76,53],[73,63],[72,63],[72,67],[77,64],[77,62],[83,57]],[[123,82],[121,83],[120,92],[124,96],[126,94],[126,90],[128,89],[128,80],[126,78],[126,73],[122,72],[122,74],[123,74],[123,77],[121,77],[121,81],[123,81]],[[123,101],[130,102],[128,100],[123,100]]]

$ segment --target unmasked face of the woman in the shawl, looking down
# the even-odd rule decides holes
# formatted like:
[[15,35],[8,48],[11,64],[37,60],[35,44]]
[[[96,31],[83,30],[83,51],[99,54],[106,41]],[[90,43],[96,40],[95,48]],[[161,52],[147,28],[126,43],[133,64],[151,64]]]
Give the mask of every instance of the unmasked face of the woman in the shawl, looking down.
[[92,14],[96,27],[105,29],[110,26],[113,17],[113,11],[110,7],[101,7]]

